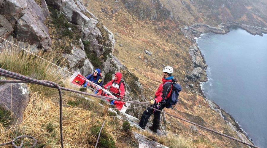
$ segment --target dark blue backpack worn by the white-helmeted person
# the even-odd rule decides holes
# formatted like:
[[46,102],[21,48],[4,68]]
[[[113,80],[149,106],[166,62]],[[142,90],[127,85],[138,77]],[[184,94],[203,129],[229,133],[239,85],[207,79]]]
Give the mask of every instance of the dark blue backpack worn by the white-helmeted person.
[[[171,82],[167,82],[171,83]],[[176,81],[173,81],[171,83],[172,91],[171,91],[171,96],[167,99],[166,101],[166,108],[171,108],[173,105],[175,106],[178,102],[178,97],[179,97],[179,92],[182,91],[182,86],[178,84]]]

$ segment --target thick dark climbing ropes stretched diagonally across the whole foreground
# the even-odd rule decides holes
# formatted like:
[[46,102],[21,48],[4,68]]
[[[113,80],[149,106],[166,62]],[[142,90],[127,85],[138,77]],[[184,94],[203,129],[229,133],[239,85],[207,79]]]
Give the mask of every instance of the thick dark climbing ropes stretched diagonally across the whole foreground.
[[[33,78],[26,77],[26,76],[24,76],[24,75],[20,75],[20,74],[17,74],[17,73],[10,72],[10,71],[8,71],[8,70],[4,70],[4,69],[2,69],[2,68],[0,68],[0,75],[3,75],[3,76],[10,77],[10,78],[15,78],[15,79],[21,80],[21,81],[5,80],[5,81],[7,81],[7,82],[11,82],[11,83],[21,83],[21,82],[23,82],[23,81],[26,81],[26,82],[29,82],[29,83],[34,83],[34,84],[39,84],[39,85],[43,85],[43,86],[47,86],[47,87],[56,88],[56,86],[54,86],[54,85],[51,84],[51,83],[47,83],[46,81],[39,81],[39,80],[36,80],[36,79],[33,79]],[[0,82],[4,82],[4,81],[1,80]],[[102,99],[111,99],[111,100],[118,100],[118,101],[122,101],[122,102],[130,102],[130,101],[126,101],[126,100],[120,100],[120,99],[109,98],[109,97],[105,97],[105,96],[99,96],[99,95],[96,95],[96,94],[89,94],[89,93],[86,93],[86,92],[76,91],[76,90],[68,89],[68,88],[64,88],[64,87],[59,87],[59,88],[62,89],[62,90],[71,91],[71,92],[75,92],[75,93],[79,93],[79,94],[85,94],[85,95],[88,95],[88,96],[93,96],[93,97],[102,98]],[[59,90],[59,91],[60,91],[60,90]],[[243,143],[243,144],[246,144],[246,145],[248,145],[248,146],[255,147],[255,148],[259,148],[259,147],[255,146],[255,145],[252,145],[252,144],[249,144],[249,143],[247,143],[247,142],[238,140],[238,139],[233,138],[233,137],[231,137],[231,136],[228,136],[228,135],[225,135],[225,134],[223,134],[223,133],[214,131],[214,130],[212,130],[212,129],[210,129],[210,128],[206,128],[206,127],[204,127],[204,126],[198,125],[198,124],[196,124],[196,123],[193,123],[193,122],[191,122],[191,121],[185,120],[185,119],[180,118],[180,117],[178,117],[178,116],[171,115],[171,114],[168,113],[168,112],[164,112],[164,111],[162,111],[162,110],[158,110],[158,109],[156,109],[156,108],[154,108],[154,107],[151,107],[151,106],[148,106],[148,105],[144,104],[144,103],[147,103],[147,102],[137,102],[137,101],[134,101],[134,100],[133,100],[132,102],[134,102],[135,104],[142,104],[142,105],[144,105],[144,106],[146,106],[146,107],[150,107],[150,108],[152,108],[152,109],[154,109],[154,110],[157,110],[157,111],[159,111],[159,112],[163,112],[163,113],[165,113],[166,115],[169,115],[169,116],[172,116],[172,117],[174,117],[174,118],[183,120],[183,121],[185,121],[185,122],[187,122],[187,123],[191,123],[191,124],[193,124],[193,125],[195,125],[195,126],[198,126],[198,127],[200,127],[200,128],[204,128],[204,129],[206,129],[206,130],[208,130],[208,131],[217,133],[217,134],[219,134],[219,135],[221,135],[221,136],[225,136],[225,137],[227,137],[227,138],[229,138],[229,139],[238,141],[238,142]],[[62,128],[62,126],[61,126],[61,128]],[[62,140],[63,140],[63,139],[62,139]],[[61,141],[61,142],[63,143],[63,141]],[[63,147],[63,144],[62,144],[62,147]]]

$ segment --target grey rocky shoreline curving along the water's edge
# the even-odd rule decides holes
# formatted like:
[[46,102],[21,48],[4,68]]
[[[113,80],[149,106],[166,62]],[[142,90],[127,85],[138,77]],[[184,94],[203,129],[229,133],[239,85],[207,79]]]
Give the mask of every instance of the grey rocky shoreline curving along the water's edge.
[[[195,38],[200,37],[201,34],[204,34],[204,33],[226,34],[230,32],[231,28],[241,28],[241,29],[246,30],[248,33],[252,35],[263,36],[263,33],[267,34],[267,28],[260,28],[260,27],[257,28],[257,27],[246,25],[246,24],[241,24],[239,22],[224,23],[224,24],[218,25],[217,27],[212,27],[210,25],[203,24],[203,23],[196,23],[194,25],[182,28],[181,31],[192,42],[192,45],[189,47],[189,54],[192,57],[192,63],[194,67],[194,70],[192,72],[188,72],[185,82],[187,84],[189,84],[190,81],[198,83],[198,86],[199,86],[198,91],[200,92],[200,94],[202,94],[202,96],[204,96],[205,100],[209,103],[209,106],[221,115],[223,120],[225,120],[227,124],[234,131],[236,131],[236,133],[238,134],[241,140],[249,141],[252,144],[254,144],[252,139],[240,127],[239,123],[233,118],[233,116],[225,112],[225,110],[220,108],[216,103],[207,99],[206,96],[204,95],[203,89],[201,88],[201,83],[208,81],[208,78],[206,75],[207,65],[204,60],[203,55],[201,54],[201,51],[198,48]],[[191,85],[192,84],[188,85],[189,86],[188,88],[190,88]],[[195,91],[193,90],[192,92],[195,92]],[[242,136],[242,134],[245,135],[246,139],[244,138],[244,136]]]

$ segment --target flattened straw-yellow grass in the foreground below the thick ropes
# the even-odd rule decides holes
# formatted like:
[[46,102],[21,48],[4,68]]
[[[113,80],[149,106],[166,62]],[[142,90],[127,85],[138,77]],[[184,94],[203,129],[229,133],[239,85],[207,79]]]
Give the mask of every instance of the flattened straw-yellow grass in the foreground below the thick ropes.
[[[66,147],[93,147],[97,135],[91,134],[91,128],[99,126],[104,120],[107,122],[104,128],[111,137],[114,137],[116,134],[113,133],[116,128],[115,124],[109,123],[113,118],[105,114],[98,115],[103,110],[104,108],[98,108],[98,111],[95,112],[95,110],[64,105],[64,145]],[[47,129],[49,123],[52,125],[52,131]],[[39,93],[31,94],[30,102],[24,112],[23,122],[8,130],[1,128],[0,143],[11,141],[15,136],[23,134],[34,136],[38,140],[39,146],[60,147],[59,104],[55,98]]]

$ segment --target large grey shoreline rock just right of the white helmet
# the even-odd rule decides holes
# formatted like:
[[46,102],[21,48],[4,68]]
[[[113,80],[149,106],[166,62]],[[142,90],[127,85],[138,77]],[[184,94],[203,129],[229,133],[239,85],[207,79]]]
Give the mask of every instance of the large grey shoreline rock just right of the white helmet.
[[201,67],[197,67],[187,75],[187,78],[193,81],[205,82],[207,81],[207,74]]

